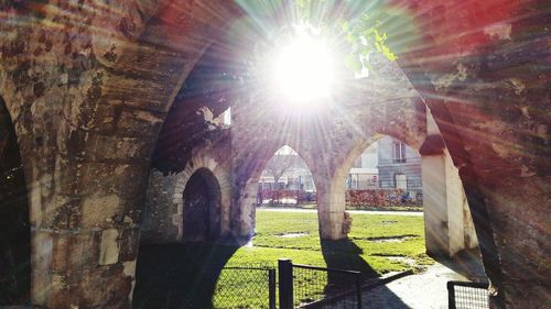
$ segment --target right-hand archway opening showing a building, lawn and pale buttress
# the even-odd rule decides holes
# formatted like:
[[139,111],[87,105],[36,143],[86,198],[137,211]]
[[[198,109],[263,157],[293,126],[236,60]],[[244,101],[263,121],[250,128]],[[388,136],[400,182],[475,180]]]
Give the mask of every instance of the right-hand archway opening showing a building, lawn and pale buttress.
[[[463,183],[445,145],[425,153],[393,136],[376,137],[345,164],[346,210],[356,214],[348,238],[379,231],[366,241],[383,246],[359,245],[369,254],[409,267],[432,264],[430,256],[453,273],[485,280]],[[375,220],[364,220],[361,212]]]

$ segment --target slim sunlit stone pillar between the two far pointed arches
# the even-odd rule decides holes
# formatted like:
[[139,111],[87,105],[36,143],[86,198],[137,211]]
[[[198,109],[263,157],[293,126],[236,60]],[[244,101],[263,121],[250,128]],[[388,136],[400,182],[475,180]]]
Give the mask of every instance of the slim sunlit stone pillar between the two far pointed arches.
[[[316,178],[324,179],[323,177]],[[346,207],[345,178],[334,177],[331,180],[317,181],[316,190],[320,238],[332,241],[346,238],[343,231]]]

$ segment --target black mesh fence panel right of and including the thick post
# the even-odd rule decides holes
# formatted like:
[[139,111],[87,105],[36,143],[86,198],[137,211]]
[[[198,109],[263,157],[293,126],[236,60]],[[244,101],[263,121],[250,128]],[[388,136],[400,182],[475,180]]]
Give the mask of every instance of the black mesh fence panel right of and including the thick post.
[[279,261],[281,309],[361,308],[359,272],[292,264]]

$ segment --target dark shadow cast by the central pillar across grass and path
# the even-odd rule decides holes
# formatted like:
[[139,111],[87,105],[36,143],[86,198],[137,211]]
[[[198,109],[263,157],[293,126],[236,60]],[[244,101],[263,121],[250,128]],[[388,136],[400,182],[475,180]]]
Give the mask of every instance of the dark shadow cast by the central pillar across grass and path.
[[[338,241],[321,241],[321,245],[327,268],[360,272],[363,282],[379,277],[379,274],[371,266],[369,266],[364,258],[361,258],[361,249],[358,247],[353,241],[348,239]],[[327,275],[325,294],[331,295],[339,293],[343,289],[355,288],[353,283],[354,280],[350,276],[329,272]],[[364,291],[364,294],[365,293],[366,291]],[[377,296],[377,304],[365,304],[364,301],[363,308],[409,308],[397,295],[385,286],[378,288],[377,293],[379,294]]]

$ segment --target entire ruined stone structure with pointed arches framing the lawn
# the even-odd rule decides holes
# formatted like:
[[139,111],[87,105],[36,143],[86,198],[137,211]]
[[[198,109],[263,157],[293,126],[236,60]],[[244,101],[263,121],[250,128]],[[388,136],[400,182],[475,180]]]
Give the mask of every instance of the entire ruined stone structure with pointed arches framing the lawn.
[[[458,169],[453,177],[468,201],[493,306],[550,307],[549,3],[400,7],[419,33],[398,63],[385,64],[380,78],[342,76],[352,90],[328,112],[315,112],[315,121],[299,121],[261,89],[245,91],[212,74],[227,65],[216,55],[228,42],[244,51],[260,40],[233,1],[1,2],[0,175],[22,164],[15,190],[28,197],[1,202],[30,214],[32,304],[131,307],[140,224],[164,216],[144,211],[148,185],[151,191],[163,181],[161,173],[173,173],[166,205],[175,213],[185,212],[184,184],[203,181],[205,196],[219,191],[209,202],[216,216],[207,235],[249,235],[258,177],[284,144],[316,179],[322,238],[343,238],[344,179],[387,134],[420,150],[423,170],[437,163],[452,177]],[[263,12],[264,20],[278,18]],[[220,89],[231,90],[226,100]],[[229,134],[205,122],[203,106],[215,115],[231,106]],[[284,124],[284,134],[274,136],[274,123]],[[457,188],[443,188],[445,197]],[[442,231],[458,208],[445,209],[434,221]],[[177,217],[158,219],[171,238],[184,238]],[[23,242],[8,234],[0,234],[2,252]],[[1,265],[8,260],[0,257]]]

